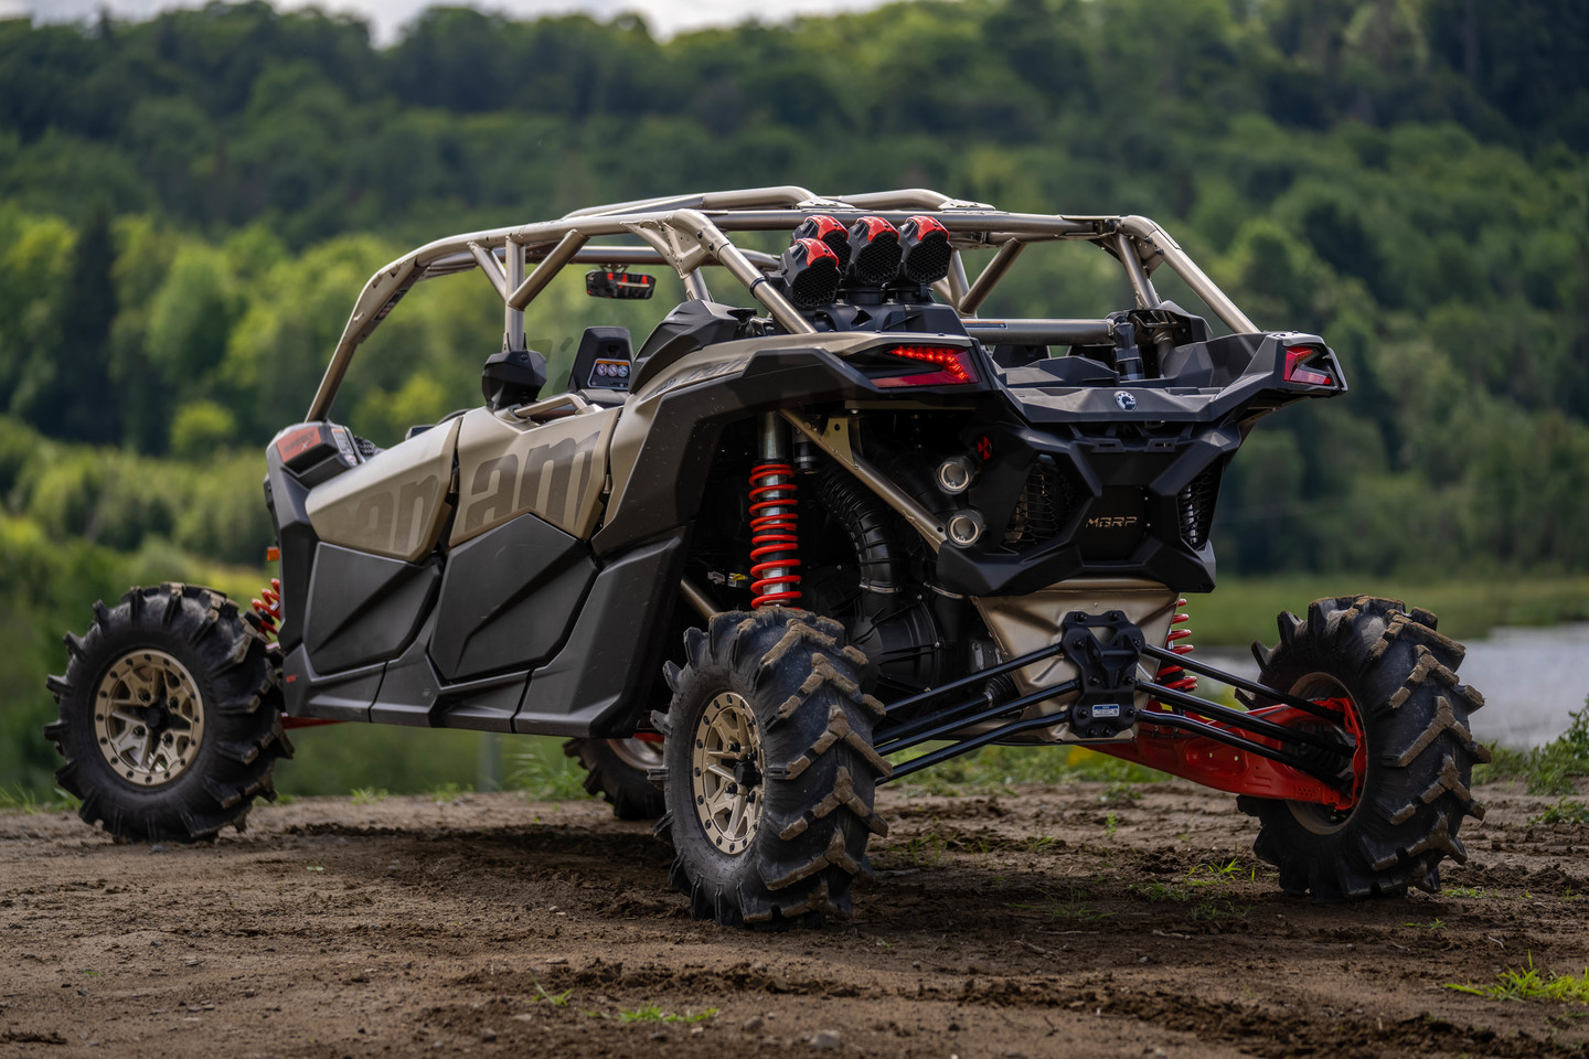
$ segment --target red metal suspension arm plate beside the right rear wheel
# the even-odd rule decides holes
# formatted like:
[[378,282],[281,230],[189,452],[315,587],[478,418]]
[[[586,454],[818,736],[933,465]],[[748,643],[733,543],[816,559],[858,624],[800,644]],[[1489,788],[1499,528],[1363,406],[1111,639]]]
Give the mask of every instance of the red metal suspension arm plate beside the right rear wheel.
[[[1090,746],[1103,754],[1135,761],[1139,765],[1182,776],[1216,791],[1231,794],[1251,794],[1260,799],[1284,799],[1289,802],[1314,802],[1336,810],[1346,810],[1357,803],[1357,795],[1363,784],[1363,768],[1368,764],[1368,751],[1363,746],[1362,727],[1357,721],[1357,710],[1346,699],[1317,699],[1320,707],[1327,707],[1340,714],[1340,726],[1346,729],[1357,743],[1352,751],[1352,792],[1343,794],[1305,772],[1278,761],[1251,754],[1236,746],[1216,743],[1211,738],[1182,732],[1179,729],[1155,727],[1152,714],[1165,711],[1165,707],[1154,703],[1154,708],[1142,716],[1138,724],[1136,743],[1109,743]],[[1241,729],[1201,718],[1197,711],[1187,711],[1192,718],[1239,735],[1263,746],[1279,746],[1274,740],[1252,735]],[[1290,707],[1265,707],[1252,710],[1252,716],[1263,718],[1274,724],[1308,724],[1319,726],[1319,719]]]

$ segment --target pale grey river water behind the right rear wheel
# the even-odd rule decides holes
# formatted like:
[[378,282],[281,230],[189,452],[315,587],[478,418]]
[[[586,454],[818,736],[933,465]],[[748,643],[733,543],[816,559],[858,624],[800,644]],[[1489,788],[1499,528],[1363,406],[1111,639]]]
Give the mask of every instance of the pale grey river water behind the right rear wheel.
[[[1572,724],[1589,695],[1589,624],[1549,629],[1495,629],[1470,640],[1457,670],[1462,683],[1484,695],[1473,714],[1483,743],[1524,749],[1549,743]],[[1257,678],[1251,651],[1198,648],[1197,656],[1238,676]]]

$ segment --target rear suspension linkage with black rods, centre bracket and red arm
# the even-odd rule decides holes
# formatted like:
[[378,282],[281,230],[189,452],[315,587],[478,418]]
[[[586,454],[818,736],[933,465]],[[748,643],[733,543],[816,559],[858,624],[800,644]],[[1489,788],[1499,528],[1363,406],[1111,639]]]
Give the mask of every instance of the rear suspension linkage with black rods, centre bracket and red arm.
[[[1087,632],[1092,635],[1085,635]],[[1104,646],[1100,648],[1100,643]],[[1079,673],[1076,680],[1009,697],[1007,681],[998,678],[1057,654],[1065,654],[1076,665]],[[1201,676],[1260,695],[1276,705],[1249,711],[1231,710],[1142,680],[1136,676],[1138,657],[1173,660]],[[966,692],[979,684],[982,687],[976,697],[933,707],[953,692]],[[895,754],[928,741],[945,738],[950,741],[920,757],[895,764],[893,773],[882,781],[909,776],[1022,732],[1055,727],[1082,716],[1090,718],[1096,705],[1084,710],[1076,707],[1098,703],[1101,699],[1135,700],[1138,692],[1146,692],[1154,702],[1144,711],[1136,711],[1135,707],[1123,708],[1131,724],[1122,721],[1119,730],[1135,729],[1133,741],[1074,738],[1073,726],[1073,745],[1135,761],[1231,794],[1313,802],[1336,810],[1355,803],[1367,751],[1351,702],[1298,699],[1203,660],[1144,645],[1136,627],[1119,611],[1103,618],[1081,611],[1068,614],[1058,641],[890,703],[887,718],[915,716],[891,726],[885,721],[885,727],[877,734],[879,753]],[[1030,707],[1071,694],[1076,694],[1074,702],[1061,710],[1033,718],[1022,716]],[[987,732],[953,738],[958,730],[999,718],[1011,719]]]

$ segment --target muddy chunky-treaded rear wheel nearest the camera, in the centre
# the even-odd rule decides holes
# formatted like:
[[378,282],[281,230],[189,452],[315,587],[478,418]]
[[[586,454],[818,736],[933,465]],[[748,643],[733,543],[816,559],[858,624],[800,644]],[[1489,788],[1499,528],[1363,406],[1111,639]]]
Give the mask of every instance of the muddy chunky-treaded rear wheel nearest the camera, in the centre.
[[[890,768],[872,749],[882,703],[856,676],[866,656],[842,646],[842,635],[839,622],[799,610],[718,614],[685,637],[686,665],[667,667],[672,703],[653,714],[667,735],[658,834],[672,837],[671,883],[698,919],[785,929],[849,915],[866,843],[888,832],[872,799]],[[696,756],[717,738],[702,740],[702,726],[726,703],[742,703],[733,708],[756,745],[734,762],[745,808],[760,813],[740,840],[709,835],[698,811],[706,795]]]

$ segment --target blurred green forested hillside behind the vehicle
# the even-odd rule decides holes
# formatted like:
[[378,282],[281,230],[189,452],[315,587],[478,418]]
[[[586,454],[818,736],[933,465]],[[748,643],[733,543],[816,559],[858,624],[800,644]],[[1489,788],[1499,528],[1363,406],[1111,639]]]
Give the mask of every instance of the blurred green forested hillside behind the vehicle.
[[[43,681],[95,599],[269,576],[262,446],[377,267],[686,191],[1152,216],[1260,325],[1325,335],[1352,387],[1243,448],[1222,575],[1505,587],[1508,619],[1583,619],[1586,151],[1579,0],[965,0],[667,41],[435,8],[385,49],[265,3],[0,22],[0,788],[48,794]],[[1028,254],[990,311],[1127,303],[1068,249]],[[555,378],[612,306],[537,302]],[[499,343],[485,283],[426,284],[338,418],[391,443],[478,403]],[[370,735],[284,786],[424,789],[472,754]]]

